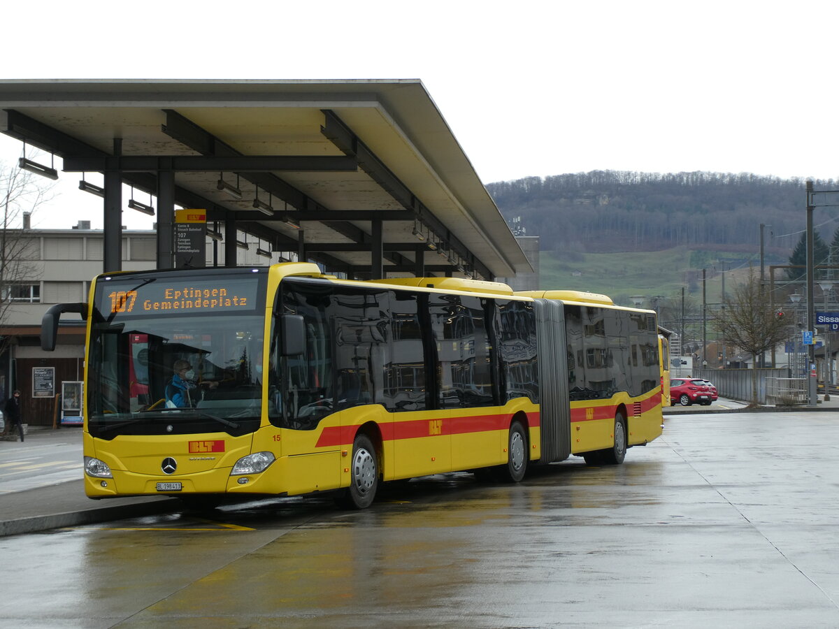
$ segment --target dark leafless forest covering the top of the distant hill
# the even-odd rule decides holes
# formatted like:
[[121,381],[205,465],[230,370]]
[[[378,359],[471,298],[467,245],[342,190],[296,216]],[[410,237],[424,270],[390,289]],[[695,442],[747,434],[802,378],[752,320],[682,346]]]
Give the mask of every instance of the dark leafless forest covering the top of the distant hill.
[[[832,179],[814,186],[836,190]],[[754,251],[761,223],[780,235],[803,230],[806,221],[804,179],[754,174],[593,170],[503,181],[487,190],[508,221],[520,216],[526,235],[557,253],[679,246]],[[820,211],[836,216],[837,210]],[[835,229],[836,222],[827,224],[822,236],[829,240]],[[781,252],[798,238],[771,241],[767,231],[764,242]]]

